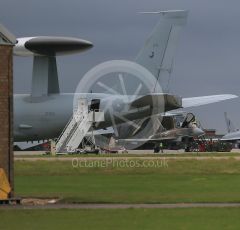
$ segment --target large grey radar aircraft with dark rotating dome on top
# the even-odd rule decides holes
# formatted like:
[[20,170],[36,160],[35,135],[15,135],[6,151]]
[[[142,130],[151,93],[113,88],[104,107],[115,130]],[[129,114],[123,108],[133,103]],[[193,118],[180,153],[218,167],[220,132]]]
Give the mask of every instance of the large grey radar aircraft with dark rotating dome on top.
[[[186,23],[188,12],[184,10],[147,12],[160,15],[160,21],[146,40],[135,62],[146,68],[161,82],[170,74],[179,34]],[[14,141],[34,141],[56,138],[60,135],[73,114],[74,93],[60,93],[56,57],[83,52],[93,47],[89,41],[69,37],[37,36],[18,38],[14,54],[33,56],[32,89],[30,94],[14,95]],[[78,93],[87,98],[90,106],[96,100],[104,111],[104,121],[98,129],[115,124],[145,119],[178,108],[188,108],[235,98],[235,95],[211,95],[180,98],[169,93],[143,95],[111,95],[108,93]],[[164,103],[161,101],[164,100]],[[157,103],[155,103],[157,102]],[[160,102],[160,103],[159,103]],[[106,110],[106,107],[112,107]],[[119,108],[121,110],[119,111]]]

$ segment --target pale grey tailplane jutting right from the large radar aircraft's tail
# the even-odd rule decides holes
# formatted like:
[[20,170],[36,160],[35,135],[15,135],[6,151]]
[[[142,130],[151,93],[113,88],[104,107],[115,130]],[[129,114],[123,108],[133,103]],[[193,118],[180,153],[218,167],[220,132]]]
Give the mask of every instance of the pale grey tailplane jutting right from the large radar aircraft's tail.
[[182,99],[182,107],[189,108],[200,105],[207,105],[211,103],[216,103],[220,101],[225,101],[233,98],[237,98],[238,96],[233,94],[220,94],[220,95],[211,95],[211,96],[202,96],[202,97],[188,97]]

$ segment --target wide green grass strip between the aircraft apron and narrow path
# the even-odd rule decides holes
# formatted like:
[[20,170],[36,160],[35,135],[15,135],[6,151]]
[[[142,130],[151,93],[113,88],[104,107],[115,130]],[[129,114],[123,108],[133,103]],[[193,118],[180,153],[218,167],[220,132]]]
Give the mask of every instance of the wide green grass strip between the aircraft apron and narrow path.
[[71,161],[17,161],[15,192],[79,203],[240,202],[239,161],[181,159],[167,165],[73,168]]

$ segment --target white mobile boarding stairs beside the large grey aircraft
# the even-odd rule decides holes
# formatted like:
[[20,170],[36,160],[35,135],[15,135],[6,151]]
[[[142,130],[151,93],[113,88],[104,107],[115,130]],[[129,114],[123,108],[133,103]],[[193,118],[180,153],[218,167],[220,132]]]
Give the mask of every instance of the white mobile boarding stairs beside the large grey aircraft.
[[74,152],[91,127],[104,121],[104,113],[89,110],[86,98],[78,99],[78,106],[56,142],[56,152]]

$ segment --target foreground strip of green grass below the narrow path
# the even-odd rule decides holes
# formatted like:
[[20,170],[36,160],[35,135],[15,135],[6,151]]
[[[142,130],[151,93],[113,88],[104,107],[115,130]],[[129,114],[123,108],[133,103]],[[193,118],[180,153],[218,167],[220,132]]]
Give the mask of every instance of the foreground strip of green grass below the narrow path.
[[240,229],[238,208],[0,210],[1,229]]

